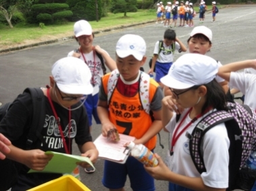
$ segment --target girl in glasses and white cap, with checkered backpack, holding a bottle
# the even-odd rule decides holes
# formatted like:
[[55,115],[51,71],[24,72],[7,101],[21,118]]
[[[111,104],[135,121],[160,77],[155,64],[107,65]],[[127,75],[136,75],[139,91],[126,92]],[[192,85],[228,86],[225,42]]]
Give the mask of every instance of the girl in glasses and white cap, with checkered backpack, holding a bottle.
[[[227,110],[225,93],[215,81],[217,63],[209,56],[184,54],[172,65],[170,73],[161,79],[172,96],[162,100],[162,122],[172,132],[168,166],[157,156],[157,167],[145,167],[157,180],[169,182],[170,191],[226,190],[228,188],[228,149],[230,141],[224,122],[208,130],[203,137],[202,153],[206,171],[197,171],[188,149],[189,138],[195,126],[215,110]],[[172,102],[174,99],[174,102]],[[176,120],[173,104],[182,106],[184,112]]]

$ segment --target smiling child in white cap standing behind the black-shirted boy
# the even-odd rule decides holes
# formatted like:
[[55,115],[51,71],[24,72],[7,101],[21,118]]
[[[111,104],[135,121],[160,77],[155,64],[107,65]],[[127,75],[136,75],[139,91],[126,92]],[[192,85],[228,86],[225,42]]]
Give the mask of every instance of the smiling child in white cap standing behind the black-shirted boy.
[[[111,59],[109,54],[101,47],[93,46],[93,29],[91,24],[85,20],[80,20],[74,24],[74,35],[79,43],[79,48],[68,53],[68,56],[74,56],[81,59],[84,65],[88,65],[92,73],[91,85],[93,85],[93,93],[88,95],[84,102],[86,112],[88,114],[90,129],[93,125],[93,118],[97,124],[100,124],[97,114],[97,103],[99,100],[99,85],[101,77],[106,73],[105,65],[110,71],[116,69],[116,63]],[[92,173],[93,169],[84,169],[87,173]]]

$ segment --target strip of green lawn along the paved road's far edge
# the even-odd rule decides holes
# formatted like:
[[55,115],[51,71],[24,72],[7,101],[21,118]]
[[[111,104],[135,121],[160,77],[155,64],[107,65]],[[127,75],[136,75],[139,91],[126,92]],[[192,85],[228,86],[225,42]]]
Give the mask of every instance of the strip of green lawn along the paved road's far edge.
[[[155,20],[155,10],[138,10],[136,13],[109,13],[107,17],[102,17],[99,22],[90,22],[93,30],[111,28],[113,26],[121,26],[127,24],[135,24]],[[57,37],[72,36],[74,22],[66,22],[62,24],[45,25],[40,28],[39,25],[22,25],[18,24],[14,28],[0,25],[0,50],[9,46],[17,46],[20,44],[29,44],[34,41],[51,40]]]

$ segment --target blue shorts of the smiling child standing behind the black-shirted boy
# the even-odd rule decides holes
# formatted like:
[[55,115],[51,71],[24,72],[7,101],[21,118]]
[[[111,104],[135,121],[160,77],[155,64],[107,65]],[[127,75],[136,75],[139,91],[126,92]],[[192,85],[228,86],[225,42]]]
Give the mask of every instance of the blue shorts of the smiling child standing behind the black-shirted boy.
[[84,106],[86,108],[86,112],[88,115],[88,120],[89,120],[89,126],[92,126],[93,124],[93,118],[95,119],[95,122],[97,124],[100,124],[101,121],[99,120],[99,116],[97,113],[97,105],[98,105],[98,100],[99,100],[99,93],[95,95],[88,95],[84,102]]

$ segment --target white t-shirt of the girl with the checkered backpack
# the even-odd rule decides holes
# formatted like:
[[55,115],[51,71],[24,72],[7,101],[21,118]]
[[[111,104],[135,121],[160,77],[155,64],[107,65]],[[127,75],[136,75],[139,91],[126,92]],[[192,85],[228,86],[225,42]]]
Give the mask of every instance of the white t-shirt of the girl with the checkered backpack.
[[[180,116],[178,124],[187,112],[188,109],[184,110]],[[199,118],[197,122],[202,118],[203,116]],[[178,132],[180,132],[190,121],[191,118],[189,115],[186,116]],[[190,125],[174,145],[172,171],[183,176],[201,177],[206,186],[213,188],[228,188],[228,148],[230,146],[230,141],[228,139],[226,127],[224,123],[218,124],[205,133],[205,137],[203,139],[203,161],[207,171],[203,172],[203,174],[199,174],[191,159],[189,152],[189,140],[186,137],[186,132],[191,134],[197,122]],[[176,124],[176,113],[174,113],[172,119],[165,128],[169,130],[169,132],[173,133],[174,129],[178,126]]]

